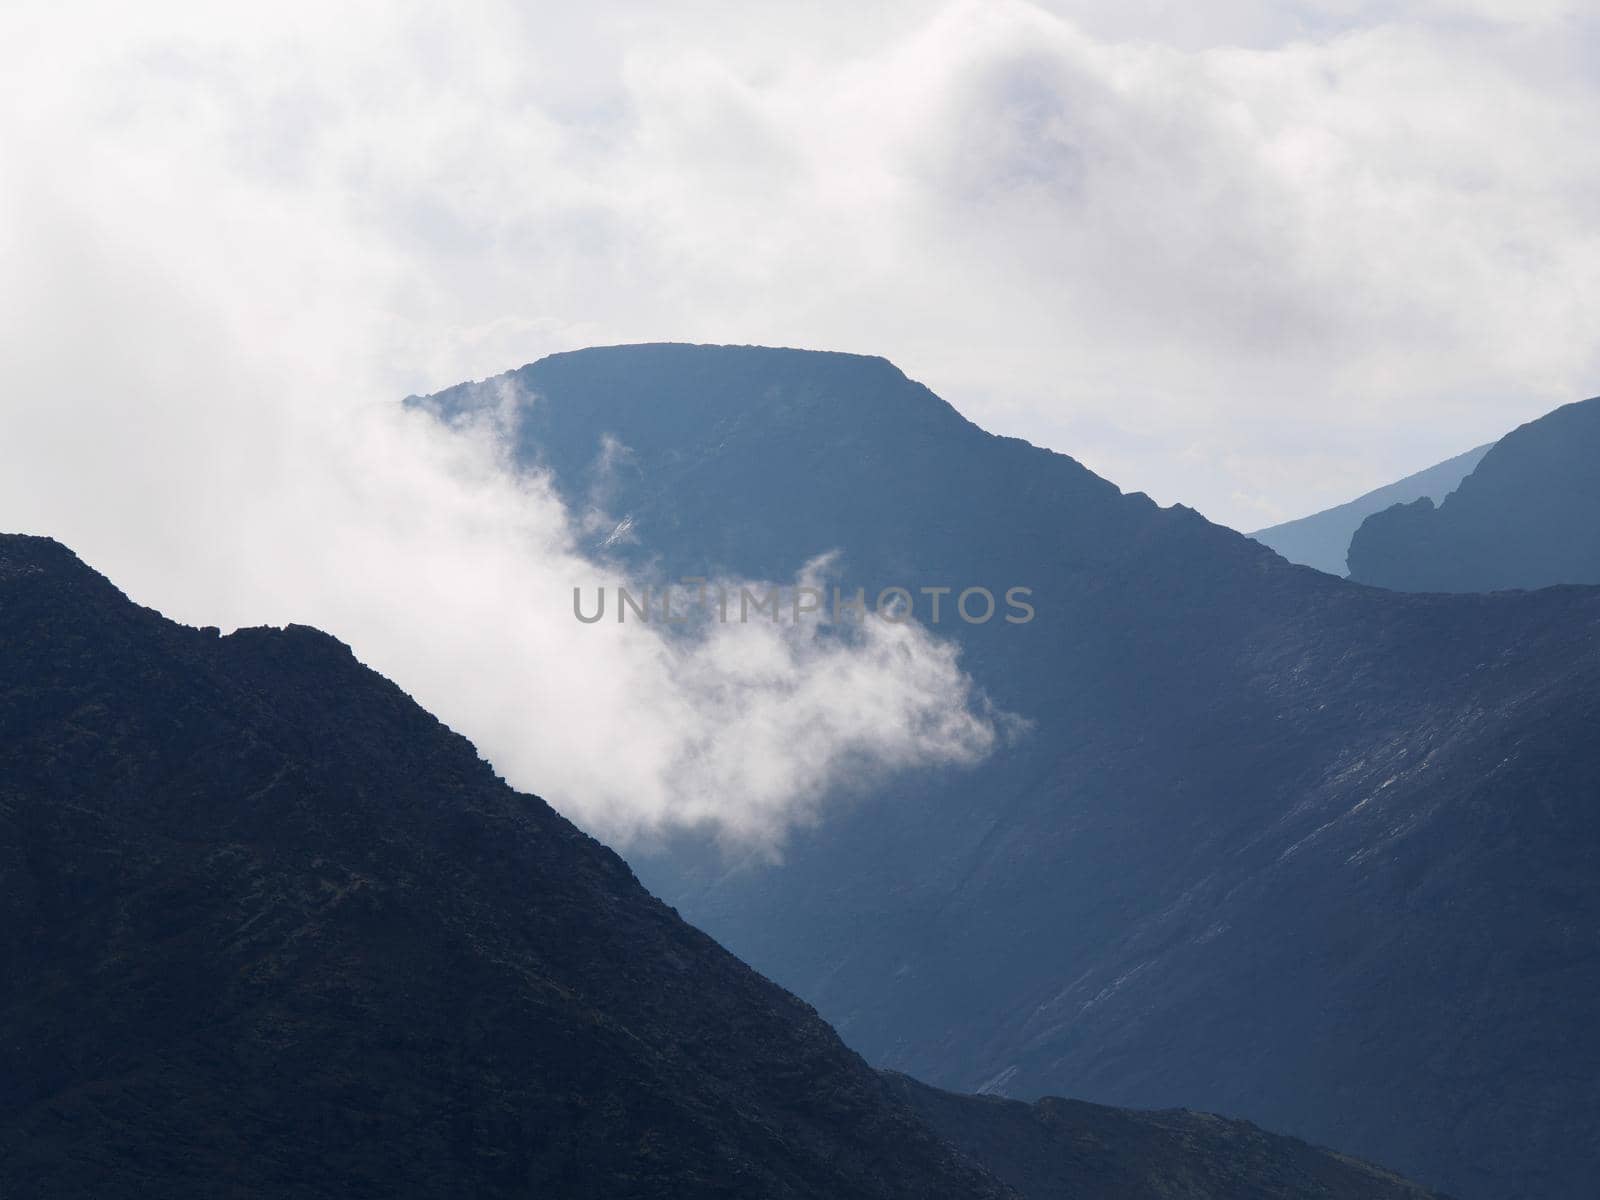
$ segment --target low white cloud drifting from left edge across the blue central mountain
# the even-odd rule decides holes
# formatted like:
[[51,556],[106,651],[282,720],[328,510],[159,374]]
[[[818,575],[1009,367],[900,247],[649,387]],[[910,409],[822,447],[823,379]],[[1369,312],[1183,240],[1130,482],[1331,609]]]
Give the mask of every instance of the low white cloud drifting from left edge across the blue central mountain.
[[144,301],[117,326],[62,338],[67,296],[18,314],[0,525],[195,624],[338,634],[621,845],[693,826],[776,854],[842,784],[990,750],[954,646],[917,624],[574,621],[574,586],[638,584],[584,555],[594,514],[515,469],[494,422],[352,398],[370,386],[309,360],[336,347],[250,354],[160,266],[128,262],[99,264]]

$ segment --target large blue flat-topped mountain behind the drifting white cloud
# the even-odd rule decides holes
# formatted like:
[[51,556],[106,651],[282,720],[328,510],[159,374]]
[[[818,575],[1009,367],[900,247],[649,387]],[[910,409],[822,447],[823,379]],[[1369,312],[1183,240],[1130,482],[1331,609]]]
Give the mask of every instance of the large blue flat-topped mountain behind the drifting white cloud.
[[846,587],[1034,589],[1027,624],[939,626],[1030,722],[982,766],[835,800],[781,864],[635,856],[869,1061],[1226,1112],[1469,1200],[1590,1195],[1600,592],[1290,565],[882,358],[594,349],[411,403],[506,397],[642,573],[837,549]]

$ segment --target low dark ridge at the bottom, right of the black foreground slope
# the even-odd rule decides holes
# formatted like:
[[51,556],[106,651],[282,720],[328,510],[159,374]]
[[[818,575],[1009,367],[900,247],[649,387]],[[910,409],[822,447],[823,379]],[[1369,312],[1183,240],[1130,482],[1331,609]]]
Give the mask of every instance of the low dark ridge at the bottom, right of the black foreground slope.
[[1130,1112],[1059,1099],[957,1096],[909,1075],[890,1083],[915,1112],[1027,1200],[1427,1200],[1382,1168],[1203,1112]]

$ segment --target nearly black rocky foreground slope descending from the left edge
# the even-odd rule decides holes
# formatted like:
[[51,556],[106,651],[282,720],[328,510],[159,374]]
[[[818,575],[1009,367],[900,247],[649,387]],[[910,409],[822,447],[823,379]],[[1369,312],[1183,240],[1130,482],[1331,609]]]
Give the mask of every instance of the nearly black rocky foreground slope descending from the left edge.
[[1002,1194],[331,637],[0,538],[0,1195]]

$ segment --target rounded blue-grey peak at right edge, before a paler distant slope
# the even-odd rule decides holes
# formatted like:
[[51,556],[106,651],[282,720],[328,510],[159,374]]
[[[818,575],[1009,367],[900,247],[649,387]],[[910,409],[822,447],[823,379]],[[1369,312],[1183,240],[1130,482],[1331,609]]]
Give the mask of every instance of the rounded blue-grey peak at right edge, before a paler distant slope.
[[1600,584],[1600,397],[1514,429],[1435,506],[1368,517],[1350,578],[1397,592]]

